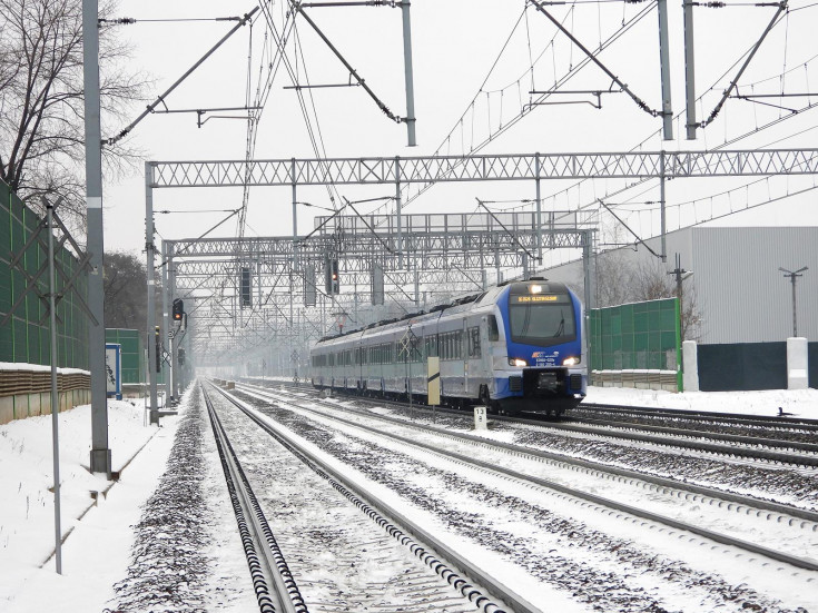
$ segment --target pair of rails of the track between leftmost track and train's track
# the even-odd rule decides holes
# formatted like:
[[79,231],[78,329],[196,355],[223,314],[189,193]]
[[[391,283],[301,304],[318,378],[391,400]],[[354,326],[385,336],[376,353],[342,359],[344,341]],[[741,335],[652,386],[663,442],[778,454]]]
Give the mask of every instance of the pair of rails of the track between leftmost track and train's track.
[[[268,395],[266,393],[264,393],[264,396],[268,398],[275,398],[275,395]],[[298,406],[303,411],[306,411],[313,414],[317,413],[314,407],[309,407],[305,405],[303,399],[299,399],[297,397],[290,396],[287,399],[287,402]],[[337,411],[336,405],[332,406],[331,408]],[[348,407],[346,408],[346,411],[349,411]],[[319,414],[324,417],[327,417],[327,414],[324,412],[319,412]],[[541,462],[542,461],[550,462],[552,465],[562,464],[564,466],[568,466],[569,469],[574,473],[576,471],[584,471],[589,475],[590,474],[594,474],[597,476],[601,475],[603,478],[608,481],[611,481],[611,479],[618,479],[620,482],[627,481],[629,482],[630,485],[633,485],[635,482],[640,482],[642,484],[641,487],[644,487],[644,484],[648,484],[648,486],[652,490],[652,492],[660,493],[676,501],[678,500],[692,500],[693,502],[704,501],[709,503],[709,505],[711,506],[713,505],[716,507],[723,506],[731,512],[740,511],[748,515],[755,515],[755,517],[757,518],[763,517],[763,520],[761,520],[760,522],[761,524],[763,524],[765,521],[769,521],[773,523],[785,522],[785,523],[788,523],[789,525],[797,526],[798,530],[804,530],[807,532],[816,533],[818,532],[818,513],[815,513],[811,511],[799,510],[799,508],[791,507],[788,505],[781,505],[781,504],[778,504],[771,501],[761,501],[758,498],[751,498],[749,496],[727,494],[725,492],[717,491],[713,488],[691,486],[688,484],[676,482],[673,479],[650,477],[644,474],[637,474],[634,472],[623,471],[623,469],[615,469],[615,468],[612,469],[611,467],[601,466],[594,463],[582,462],[582,461],[579,461],[579,462],[571,461],[571,459],[565,458],[564,456],[558,456],[556,454],[538,452],[538,451],[525,448],[519,445],[510,445],[510,444],[491,442],[491,441],[486,441],[485,438],[476,437],[476,436],[454,434],[454,433],[451,433],[447,431],[441,431],[437,428],[418,426],[416,424],[406,424],[406,422],[403,419],[391,418],[391,417],[383,416],[383,415],[373,415],[372,413],[366,413],[364,417],[366,417],[366,419],[369,422],[381,421],[383,423],[388,423],[392,425],[400,426],[404,431],[404,434],[384,432],[384,428],[382,427],[372,427],[367,424],[363,424],[357,421],[351,421],[345,417],[339,417],[338,415],[329,415],[329,417],[335,422],[343,423],[354,428],[365,429],[369,433],[376,433],[381,436],[387,436],[387,437],[397,439],[402,442],[403,444],[422,447],[430,452],[434,452],[441,455],[446,455],[459,462],[470,463],[472,465],[480,466],[481,468],[484,468],[484,469],[495,471],[506,477],[524,481],[524,482],[528,482],[529,484],[534,484],[541,487],[548,487],[550,490],[558,491],[562,494],[566,494],[570,496],[574,496],[574,497],[588,501],[595,505],[600,505],[607,508],[612,508],[618,512],[628,513],[635,517],[640,517],[642,520],[647,520],[650,522],[657,522],[657,523],[663,524],[672,528],[683,530],[686,532],[697,534],[704,538],[716,541],[725,545],[739,547],[741,550],[753,552],[756,554],[765,555],[771,560],[785,562],[787,564],[791,564],[797,567],[801,567],[801,568],[809,570],[809,571],[818,570],[818,561],[811,560],[809,557],[806,557],[806,556],[799,557],[796,555],[791,555],[786,551],[781,551],[781,548],[772,548],[767,545],[759,545],[758,543],[748,542],[743,538],[736,537],[735,535],[730,535],[725,532],[716,532],[713,530],[702,527],[698,525],[697,523],[683,522],[683,521],[680,521],[669,515],[662,515],[660,513],[650,511],[649,508],[644,507],[644,505],[634,506],[633,504],[627,504],[622,502],[621,500],[605,498],[605,497],[589,493],[588,490],[580,490],[580,488],[566,486],[565,483],[570,479],[565,479],[562,482],[554,481],[553,478],[543,479],[543,478],[532,476],[530,474],[522,474],[519,471],[504,468],[496,462],[491,462],[491,461],[486,462],[486,461],[477,459],[476,457],[474,457],[475,454],[473,452],[463,453],[462,451],[461,452],[452,451],[449,448],[444,448],[443,445],[436,442],[432,444],[420,443],[414,439],[415,437],[412,437],[412,435],[407,434],[405,431],[422,429],[426,433],[433,434],[435,437],[446,438],[450,441],[457,441],[461,444],[461,449],[462,449],[463,443],[465,443],[466,445],[472,445],[472,446],[480,445],[484,447],[494,447],[494,448],[500,448],[505,453],[514,454],[515,456],[530,456]],[[592,485],[590,488],[593,491],[599,490],[599,485]],[[650,505],[647,505],[647,506],[649,507]],[[716,525],[719,523],[719,521],[723,521],[723,518],[722,520],[711,518],[710,521]]]

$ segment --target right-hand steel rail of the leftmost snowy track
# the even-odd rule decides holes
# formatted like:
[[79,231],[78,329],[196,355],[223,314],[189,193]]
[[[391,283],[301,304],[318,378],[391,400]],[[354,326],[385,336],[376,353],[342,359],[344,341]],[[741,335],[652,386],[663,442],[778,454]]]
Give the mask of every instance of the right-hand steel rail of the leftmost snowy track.
[[[354,502],[362,511],[372,517],[378,525],[404,545],[408,545],[410,550],[426,563],[441,577],[446,580],[455,590],[460,591],[464,596],[471,600],[484,613],[511,613],[511,611],[501,609],[501,606],[492,602],[492,600],[483,594],[480,589],[469,583],[454,572],[444,561],[450,561],[453,566],[459,567],[463,574],[474,580],[476,585],[484,585],[487,590],[497,594],[500,599],[513,607],[515,613],[544,613],[514,591],[497,582],[492,575],[487,574],[481,567],[475,565],[465,556],[444,544],[432,533],[410,520],[398,510],[380,500],[373,500],[372,495],[363,487],[355,484],[339,469],[334,468],[324,462],[318,455],[309,449],[303,448],[294,442],[286,433],[273,427],[266,421],[262,419],[257,411],[247,407],[242,401],[228,394],[224,389],[216,388],[219,394],[231,402],[247,417],[253,419],[262,429],[273,436],[279,444],[290,451],[296,457],[299,457],[305,464],[313,468],[317,474],[327,478],[333,487]],[[358,502],[355,502],[357,498]],[[363,501],[363,502],[361,502]],[[396,525],[391,525],[396,524]],[[415,535],[426,545],[413,543],[401,527],[406,532]],[[428,547],[428,548],[427,548]],[[431,550],[431,551],[430,551]],[[440,556],[440,557],[438,557]]]

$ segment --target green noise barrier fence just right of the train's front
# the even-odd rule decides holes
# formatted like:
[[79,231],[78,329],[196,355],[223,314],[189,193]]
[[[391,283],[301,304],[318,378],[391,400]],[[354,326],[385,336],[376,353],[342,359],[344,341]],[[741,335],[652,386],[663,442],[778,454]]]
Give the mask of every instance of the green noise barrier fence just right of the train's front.
[[681,389],[679,300],[591,309],[591,370],[672,370]]

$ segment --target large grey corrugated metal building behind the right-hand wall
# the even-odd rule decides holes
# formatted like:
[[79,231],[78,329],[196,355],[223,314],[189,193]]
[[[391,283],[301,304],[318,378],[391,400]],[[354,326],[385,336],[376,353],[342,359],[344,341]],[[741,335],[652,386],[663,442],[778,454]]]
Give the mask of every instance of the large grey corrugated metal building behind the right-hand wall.
[[[658,238],[647,241],[657,253]],[[809,270],[797,279],[798,336],[818,342],[818,227],[686,228],[667,236],[668,271],[674,255],[692,270],[684,289],[694,288],[702,324],[701,344],[782,342],[792,336],[792,286],[778,269]],[[620,249],[625,261],[653,263],[640,247]],[[582,285],[582,263],[545,271],[553,280]]]

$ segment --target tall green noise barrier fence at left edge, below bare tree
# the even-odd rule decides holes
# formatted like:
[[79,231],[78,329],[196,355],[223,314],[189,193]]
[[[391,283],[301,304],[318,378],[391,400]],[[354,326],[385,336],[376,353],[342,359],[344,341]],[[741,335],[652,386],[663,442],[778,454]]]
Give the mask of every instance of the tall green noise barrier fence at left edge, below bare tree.
[[[11,267],[14,255],[23,249],[39,223],[40,218],[0,181],[0,323],[6,319],[0,325],[0,362],[51,363],[48,309],[38,296],[46,296],[49,290],[48,274],[40,274],[47,261],[45,246],[35,240],[19,265]],[[55,249],[57,264],[68,277],[73,276],[77,259],[65,247],[57,249],[57,243]],[[12,306],[26,294],[30,279],[38,274],[40,276],[33,284],[36,290],[29,291],[7,318]],[[83,298],[87,296],[85,271],[79,274],[75,288]],[[68,291],[59,301],[57,318],[58,366],[87,369],[89,323],[75,291]]]

